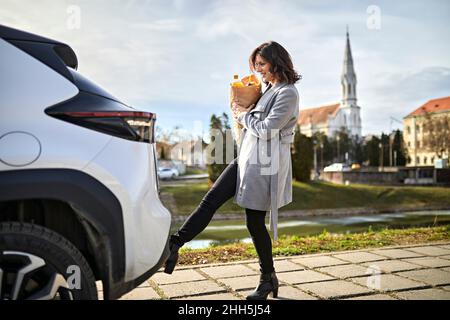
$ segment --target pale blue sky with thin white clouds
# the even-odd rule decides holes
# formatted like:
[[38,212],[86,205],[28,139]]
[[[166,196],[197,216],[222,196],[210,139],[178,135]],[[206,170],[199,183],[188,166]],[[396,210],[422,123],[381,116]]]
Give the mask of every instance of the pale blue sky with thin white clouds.
[[0,0],[0,24],[69,44],[81,73],[163,132],[205,136],[268,40],[303,77],[300,109],[339,102],[347,25],[363,135],[402,128],[450,96],[449,15],[448,0]]

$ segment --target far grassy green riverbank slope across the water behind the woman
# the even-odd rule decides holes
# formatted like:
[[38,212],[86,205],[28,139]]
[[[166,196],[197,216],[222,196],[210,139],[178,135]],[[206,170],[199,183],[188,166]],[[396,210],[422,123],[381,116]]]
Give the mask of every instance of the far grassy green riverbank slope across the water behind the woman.
[[[200,203],[209,187],[206,180],[161,187],[161,199],[174,221],[182,221]],[[280,217],[355,215],[449,210],[450,189],[443,187],[336,185],[328,182],[293,183],[293,201]],[[243,209],[227,201],[214,215],[216,220],[242,219]]]

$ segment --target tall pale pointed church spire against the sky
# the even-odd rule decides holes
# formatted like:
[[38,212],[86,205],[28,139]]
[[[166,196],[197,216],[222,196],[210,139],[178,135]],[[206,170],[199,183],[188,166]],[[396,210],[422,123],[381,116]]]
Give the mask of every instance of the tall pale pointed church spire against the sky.
[[350,36],[347,25],[347,42],[344,52],[344,66],[341,76],[342,104],[356,105],[356,73],[353,67],[352,50],[350,47]]

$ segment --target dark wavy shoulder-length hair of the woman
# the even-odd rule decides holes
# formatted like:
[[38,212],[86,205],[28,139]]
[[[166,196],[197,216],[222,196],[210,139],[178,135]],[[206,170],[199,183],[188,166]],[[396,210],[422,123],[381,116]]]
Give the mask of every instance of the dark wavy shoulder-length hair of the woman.
[[255,60],[257,55],[260,55],[264,60],[270,63],[270,72],[276,75],[280,81],[294,84],[302,78],[302,76],[294,70],[291,55],[281,44],[275,41],[269,41],[253,50],[248,59],[250,70],[252,72],[255,72]]

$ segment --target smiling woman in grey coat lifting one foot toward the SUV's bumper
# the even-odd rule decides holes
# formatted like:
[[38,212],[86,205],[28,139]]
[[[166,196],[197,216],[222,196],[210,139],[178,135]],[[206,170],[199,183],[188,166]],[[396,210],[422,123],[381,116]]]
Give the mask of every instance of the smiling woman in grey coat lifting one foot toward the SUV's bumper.
[[200,205],[171,236],[171,254],[164,272],[172,273],[179,248],[204,230],[216,210],[234,197],[245,208],[261,271],[259,285],[247,299],[259,300],[267,299],[270,293],[278,295],[265,216],[270,210],[270,226],[276,240],[278,208],[292,201],[290,144],[299,114],[294,83],[301,77],[294,70],[289,53],[274,41],[257,47],[250,55],[249,65],[252,72],[261,74],[268,87],[253,109],[233,103],[233,117],[243,126],[238,158],[227,166]]

